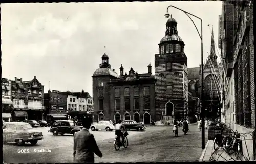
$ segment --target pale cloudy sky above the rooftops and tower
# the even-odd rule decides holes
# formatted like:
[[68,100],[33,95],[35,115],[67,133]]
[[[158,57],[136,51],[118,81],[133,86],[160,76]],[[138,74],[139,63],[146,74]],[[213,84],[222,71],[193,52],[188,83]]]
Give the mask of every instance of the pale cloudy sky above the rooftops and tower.
[[[165,36],[169,5],[202,18],[205,62],[211,26],[218,45],[221,1],[1,4],[2,77],[28,81],[36,76],[45,92],[83,89],[93,96],[92,75],[104,53],[118,74],[121,64],[124,72],[132,67],[147,73],[150,62],[154,73],[154,55]],[[193,22],[180,10],[168,12],[178,22],[188,67],[199,67],[201,40]],[[201,31],[200,20],[193,20]]]

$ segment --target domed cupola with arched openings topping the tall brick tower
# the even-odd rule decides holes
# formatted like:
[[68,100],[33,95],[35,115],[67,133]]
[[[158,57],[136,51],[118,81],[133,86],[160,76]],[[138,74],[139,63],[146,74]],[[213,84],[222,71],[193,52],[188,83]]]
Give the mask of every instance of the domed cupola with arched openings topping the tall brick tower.
[[165,36],[158,45],[160,54],[183,52],[185,44],[178,35],[177,21],[172,15],[166,22]]

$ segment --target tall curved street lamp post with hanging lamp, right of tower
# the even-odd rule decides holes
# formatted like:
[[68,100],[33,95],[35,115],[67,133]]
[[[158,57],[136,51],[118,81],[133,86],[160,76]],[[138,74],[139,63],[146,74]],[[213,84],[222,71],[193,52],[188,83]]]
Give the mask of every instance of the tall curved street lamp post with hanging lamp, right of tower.
[[[202,123],[204,124],[203,21],[202,21],[201,18],[199,18],[199,17],[197,17],[197,16],[195,16],[193,14],[190,14],[189,12],[186,12],[186,11],[180,9],[180,8],[172,6],[172,5],[167,7],[167,12],[164,15],[166,18],[170,17],[170,14],[168,13],[169,7],[173,7],[173,8],[176,8],[178,10],[183,11],[190,18],[190,20],[193,22],[193,24],[194,24],[196,29],[197,29],[197,26],[196,26],[195,22],[191,19],[191,17],[189,15],[192,15],[192,16],[194,16],[194,17],[196,17],[196,18],[201,20],[201,35],[200,35],[198,29],[197,29],[197,32],[198,32],[198,35],[199,35],[199,37],[201,39],[201,103],[202,103],[202,106],[201,106],[201,118],[202,118]],[[204,148],[205,148],[205,131],[204,131],[204,128],[202,128],[202,149],[204,149]]]

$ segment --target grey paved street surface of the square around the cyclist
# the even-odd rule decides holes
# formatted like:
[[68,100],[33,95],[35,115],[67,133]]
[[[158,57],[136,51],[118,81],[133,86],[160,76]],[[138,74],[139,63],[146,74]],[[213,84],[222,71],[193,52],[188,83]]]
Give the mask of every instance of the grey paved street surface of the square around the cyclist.
[[[36,128],[42,130],[44,139],[37,145],[16,146],[8,143],[3,146],[6,163],[71,163],[73,162],[73,136],[54,136],[47,132],[49,127]],[[153,126],[146,131],[129,131],[129,146],[116,151],[113,145],[114,131],[92,131],[103,157],[95,155],[95,162],[167,162],[167,161],[197,161],[202,153],[201,134],[196,125],[189,126],[190,132],[174,137],[172,127]],[[207,137],[207,133],[206,133]],[[205,143],[207,140],[205,141]],[[29,149],[30,153],[18,153]],[[34,152],[51,151],[51,152]],[[122,159],[122,161],[120,161]]]

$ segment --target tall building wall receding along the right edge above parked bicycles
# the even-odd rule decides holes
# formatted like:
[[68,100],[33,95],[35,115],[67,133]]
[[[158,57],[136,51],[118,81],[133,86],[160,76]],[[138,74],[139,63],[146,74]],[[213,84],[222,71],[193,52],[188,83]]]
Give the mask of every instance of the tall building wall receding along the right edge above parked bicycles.
[[[222,4],[220,39],[223,79],[226,79],[223,80],[223,119],[233,130],[252,133],[255,131],[253,1],[223,1]],[[251,139],[247,136],[246,139]],[[248,147],[242,145],[244,155],[255,159],[255,137],[248,142]]]

